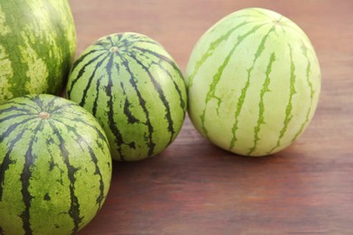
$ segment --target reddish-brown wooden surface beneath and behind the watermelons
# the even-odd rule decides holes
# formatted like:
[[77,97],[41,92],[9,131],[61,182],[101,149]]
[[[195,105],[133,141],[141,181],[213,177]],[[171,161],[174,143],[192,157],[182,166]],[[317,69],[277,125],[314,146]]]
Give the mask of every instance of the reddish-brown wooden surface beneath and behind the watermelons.
[[206,29],[261,6],[301,26],[322,71],[316,116],[291,147],[256,159],[232,155],[186,118],[161,155],[114,164],[107,201],[80,234],[353,234],[353,1],[70,2],[78,54],[109,33],[145,33],[185,71]]

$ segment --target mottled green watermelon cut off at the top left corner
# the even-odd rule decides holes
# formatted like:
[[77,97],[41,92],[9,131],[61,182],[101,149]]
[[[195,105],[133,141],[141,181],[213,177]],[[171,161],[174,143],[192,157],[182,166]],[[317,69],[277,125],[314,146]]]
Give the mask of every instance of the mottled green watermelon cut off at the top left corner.
[[67,0],[0,1],[0,103],[61,94],[76,50]]

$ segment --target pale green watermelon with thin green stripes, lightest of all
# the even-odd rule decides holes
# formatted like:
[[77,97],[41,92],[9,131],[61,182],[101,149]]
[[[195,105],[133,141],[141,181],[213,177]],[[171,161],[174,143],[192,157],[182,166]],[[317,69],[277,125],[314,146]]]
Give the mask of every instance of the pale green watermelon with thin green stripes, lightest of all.
[[310,40],[262,8],[229,14],[196,43],[186,68],[188,113],[216,146],[271,155],[301,136],[320,95]]

